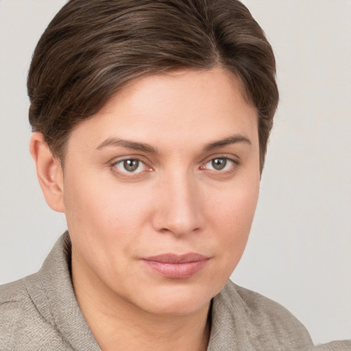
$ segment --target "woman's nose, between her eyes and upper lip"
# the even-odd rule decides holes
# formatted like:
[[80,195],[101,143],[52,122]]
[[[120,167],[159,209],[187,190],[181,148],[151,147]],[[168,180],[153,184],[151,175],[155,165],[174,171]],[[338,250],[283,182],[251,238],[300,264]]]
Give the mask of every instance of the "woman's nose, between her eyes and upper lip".
[[157,204],[152,219],[155,230],[181,237],[203,228],[199,186],[191,175],[173,173],[165,177],[155,195]]

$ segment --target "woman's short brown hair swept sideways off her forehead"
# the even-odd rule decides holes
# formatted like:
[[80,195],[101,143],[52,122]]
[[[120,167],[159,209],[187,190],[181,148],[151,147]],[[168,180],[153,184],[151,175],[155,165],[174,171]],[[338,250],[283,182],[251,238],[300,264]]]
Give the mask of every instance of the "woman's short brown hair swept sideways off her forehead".
[[125,82],[222,66],[258,112],[260,167],[278,104],[276,62],[261,27],[237,0],[71,0],[34,51],[29,122],[64,160],[71,130]]

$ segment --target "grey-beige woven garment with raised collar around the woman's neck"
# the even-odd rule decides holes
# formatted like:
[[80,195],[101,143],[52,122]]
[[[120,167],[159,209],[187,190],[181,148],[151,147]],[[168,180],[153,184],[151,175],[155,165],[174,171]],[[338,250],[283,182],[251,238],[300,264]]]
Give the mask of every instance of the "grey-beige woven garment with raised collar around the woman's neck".
[[[0,350],[100,350],[80,311],[70,274],[68,233],[36,274],[1,286]],[[308,332],[289,311],[228,281],[213,298],[208,351],[310,350]]]

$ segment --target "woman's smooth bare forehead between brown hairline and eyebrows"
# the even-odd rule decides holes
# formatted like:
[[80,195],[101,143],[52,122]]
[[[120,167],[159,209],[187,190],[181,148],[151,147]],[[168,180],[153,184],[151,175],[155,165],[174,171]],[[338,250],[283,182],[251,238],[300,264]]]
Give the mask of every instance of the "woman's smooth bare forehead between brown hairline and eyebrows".
[[134,80],[73,130],[71,141],[108,137],[182,143],[245,134],[255,141],[257,113],[234,75],[222,69],[175,71]]

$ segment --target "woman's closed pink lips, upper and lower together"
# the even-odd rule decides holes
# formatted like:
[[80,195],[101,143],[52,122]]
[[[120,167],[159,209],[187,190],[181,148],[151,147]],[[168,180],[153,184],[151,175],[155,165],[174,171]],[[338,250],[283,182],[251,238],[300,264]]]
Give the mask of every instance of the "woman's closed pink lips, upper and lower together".
[[190,278],[204,268],[209,258],[200,254],[162,254],[143,258],[143,261],[156,273],[166,278]]

